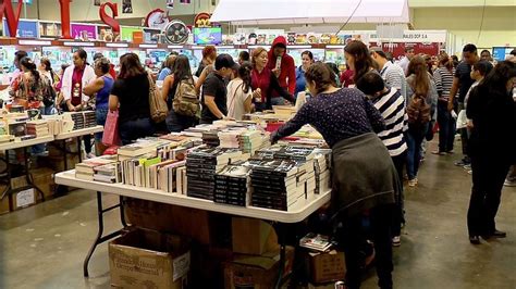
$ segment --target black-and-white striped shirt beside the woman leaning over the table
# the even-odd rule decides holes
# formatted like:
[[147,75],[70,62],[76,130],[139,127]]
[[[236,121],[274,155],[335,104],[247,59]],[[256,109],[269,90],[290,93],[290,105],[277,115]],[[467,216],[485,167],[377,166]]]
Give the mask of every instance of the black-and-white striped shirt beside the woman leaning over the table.
[[371,100],[372,104],[381,113],[385,121],[385,129],[378,134],[391,156],[402,154],[407,150],[407,143],[403,137],[404,126],[408,121],[405,112],[405,98],[396,89]]

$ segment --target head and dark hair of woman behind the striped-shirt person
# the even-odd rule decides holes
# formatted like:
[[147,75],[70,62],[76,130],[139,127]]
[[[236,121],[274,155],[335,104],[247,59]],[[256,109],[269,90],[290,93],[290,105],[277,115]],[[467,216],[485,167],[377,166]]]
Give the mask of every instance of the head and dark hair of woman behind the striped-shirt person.
[[346,59],[349,70],[355,73],[353,76],[353,81],[355,84],[363,75],[374,70],[374,64],[372,62],[371,55],[369,54],[369,49],[361,41],[351,41],[346,48],[344,48],[344,58]]

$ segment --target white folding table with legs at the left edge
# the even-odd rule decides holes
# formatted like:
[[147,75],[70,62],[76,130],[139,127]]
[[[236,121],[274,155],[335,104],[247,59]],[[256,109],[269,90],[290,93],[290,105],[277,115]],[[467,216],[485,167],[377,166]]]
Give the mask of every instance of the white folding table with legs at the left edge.
[[[0,199],[3,199],[5,198],[5,196],[9,197],[9,210],[12,211],[13,210],[13,199],[12,199],[12,196],[16,192],[21,192],[21,191],[27,191],[27,190],[32,190],[32,189],[35,189],[41,197],[41,200],[45,201],[45,196],[44,196],[44,192],[41,189],[39,189],[34,183],[33,183],[33,176],[30,174],[30,165],[29,165],[29,161],[28,161],[28,148],[32,147],[32,146],[35,146],[35,144],[40,144],[40,143],[47,143],[49,141],[52,141],[53,140],[53,136],[48,136],[48,137],[39,137],[39,138],[34,138],[34,139],[29,139],[29,140],[23,140],[23,141],[11,141],[11,142],[4,142],[4,143],[0,143],[0,151],[5,151],[5,173],[7,173],[7,184],[5,184],[5,189],[2,191],[2,194],[1,194],[1,198]],[[9,160],[9,152],[11,150],[15,150],[15,149],[23,149],[23,166],[24,166],[24,172],[25,172],[25,178],[26,178],[26,181],[27,181],[27,186],[24,186],[24,187],[21,187],[21,188],[16,188],[16,189],[13,189],[12,186],[11,186],[11,178],[12,178],[12,173],[13,173],[13,168],[12,168],[12,165],[11,165],[11,161]],[[33,191],[34,193],[34,191]]]

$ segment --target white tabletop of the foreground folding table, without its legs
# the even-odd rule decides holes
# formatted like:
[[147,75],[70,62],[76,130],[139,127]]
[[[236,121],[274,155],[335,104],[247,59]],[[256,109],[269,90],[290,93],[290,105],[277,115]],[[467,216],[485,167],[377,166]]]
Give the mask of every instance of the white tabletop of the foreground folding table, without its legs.
[[56,184],[87,189],[93,191],[102,191],[123,197],[131,197],[142,200],[169,203],[186,208],[219,212],[224,214],[274,221],[280,223],[298,223],[304,221],[319,208],[324,205],[331,199],[331,191],[296,202],[288,211],[277,211],[255,206],[235,206],[214,203],[210,200],[191,198],[185,194],[168,193],[160,190],[134,187],[122,184],[105,184],[99,181],[82,180],[75,177],[75,171],[66,171],[56,175]]

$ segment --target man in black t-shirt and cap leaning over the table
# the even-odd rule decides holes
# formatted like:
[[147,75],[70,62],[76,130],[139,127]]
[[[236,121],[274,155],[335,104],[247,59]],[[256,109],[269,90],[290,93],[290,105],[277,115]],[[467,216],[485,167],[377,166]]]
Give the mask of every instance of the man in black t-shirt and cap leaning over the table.
[[202,113],[201,124],[212,124],[214,121],[225,118],[228,114],[226,95],[228,78],[238,64],[229,54],[220,54],[216,59],[214,71],[206,77],[202,84]]

